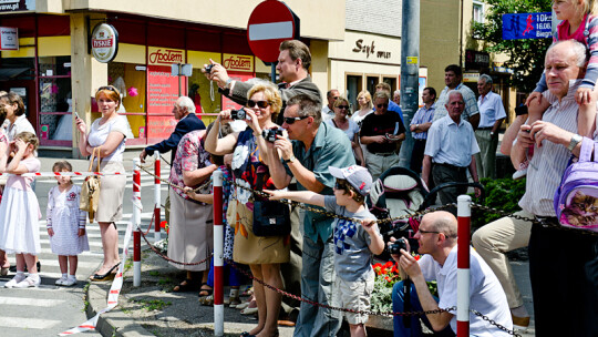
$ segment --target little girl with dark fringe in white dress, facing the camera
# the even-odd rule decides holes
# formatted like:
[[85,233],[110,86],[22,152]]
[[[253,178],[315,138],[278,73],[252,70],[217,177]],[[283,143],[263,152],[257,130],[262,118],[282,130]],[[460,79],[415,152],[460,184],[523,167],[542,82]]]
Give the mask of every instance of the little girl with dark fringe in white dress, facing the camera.
[[[55,162],[53,172],[72,172],[73,166],[66,161]],[[70,176],[56,176],[58,186],[48,193],[48,235],[52,253],[58,254],[62,277],[56,280],[58,286],[72,286],[76,284],[78,255],[89,251],[85,223],[87,212],[79,210],[81,187],[73,185]],[[66,275],[66,270],[69,274]]]

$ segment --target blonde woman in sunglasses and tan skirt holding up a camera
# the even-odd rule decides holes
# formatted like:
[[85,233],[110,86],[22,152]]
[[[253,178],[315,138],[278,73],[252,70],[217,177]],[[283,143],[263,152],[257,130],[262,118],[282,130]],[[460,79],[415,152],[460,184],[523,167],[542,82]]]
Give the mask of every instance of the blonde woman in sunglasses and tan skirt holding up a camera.
[[[264,130],[278,130],[272,122],[280,112],[282,100],[278,89],[267,82],[255,84],[247,94],[245,121],[249,127],[243,132],[231,133],[218,139],[220,123],[231,121],[231,111],[225,110],[214,122],[214,127],[206,137],[206,150],[213,154],[234,153],[233,177],[235,200],[228,210],[228,223],[235,226],[235,245],[233,259],[248,264],[255,277],[269,285],[282,288],[280,264],[289,262],[290,241],[288,236],[255,236],[252,233],[254,201],[258,198],[251,190],[276,188],[270,178],[268,150]],[[234,112],[233,116],[241,118],[243,112]],[[282,206],[282,205],[281,205]],[[233,211],[233,213],[230,213]],[[281,297],[278,293],[265,288],[254,282],[255,297],[258,306],[258,326],[246,335],[278,336],[277,320]]]

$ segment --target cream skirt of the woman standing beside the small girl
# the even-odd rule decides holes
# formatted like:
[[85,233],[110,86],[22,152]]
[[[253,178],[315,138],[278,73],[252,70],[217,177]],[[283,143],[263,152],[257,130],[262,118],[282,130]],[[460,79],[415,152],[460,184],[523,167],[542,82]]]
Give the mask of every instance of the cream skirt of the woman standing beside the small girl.
[[[94,165],[95,168],[95,165]],[[122,162],[102,162],[101,172],[125,172]],[[100,178],[100,201],[95,221],[113,223],[123,217],[123,197],[126,175],[106,175]]]

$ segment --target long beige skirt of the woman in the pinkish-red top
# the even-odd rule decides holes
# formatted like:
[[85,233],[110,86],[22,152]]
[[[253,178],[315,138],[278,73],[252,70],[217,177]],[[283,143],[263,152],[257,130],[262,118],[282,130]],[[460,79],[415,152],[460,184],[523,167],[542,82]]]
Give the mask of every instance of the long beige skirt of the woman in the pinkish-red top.
[[171,219],[168,221],[168,257],[183,263],[206,262],[185,266],[172,266],[192,272],[209,269],[209,256],[214,251],[214,207],[199,205],[178,195],[174,188],[171,195]]

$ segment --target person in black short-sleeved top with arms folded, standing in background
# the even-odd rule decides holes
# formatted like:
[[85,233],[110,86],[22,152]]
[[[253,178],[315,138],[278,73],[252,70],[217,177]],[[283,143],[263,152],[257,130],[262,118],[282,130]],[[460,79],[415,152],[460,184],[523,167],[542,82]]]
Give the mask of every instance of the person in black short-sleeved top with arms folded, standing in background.
[[363,119],[361,143],[368,149],[365,165],[375,181],[386,170],[399,165],[399,146],[405,139],[405,125],[399,114],[389,112],[389,93],[377,91],[374,113]]

